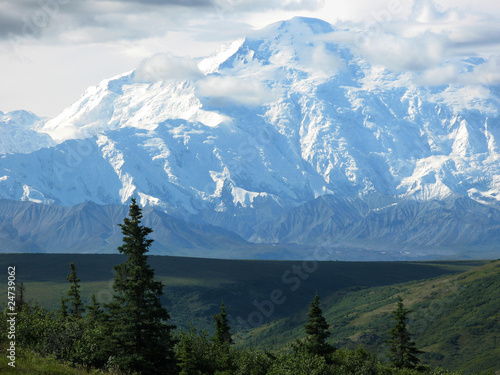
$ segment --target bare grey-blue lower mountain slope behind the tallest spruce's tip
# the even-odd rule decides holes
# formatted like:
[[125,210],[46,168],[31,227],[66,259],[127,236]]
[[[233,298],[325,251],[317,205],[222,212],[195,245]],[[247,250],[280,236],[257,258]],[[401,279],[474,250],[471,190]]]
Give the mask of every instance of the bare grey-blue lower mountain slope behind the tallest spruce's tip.
[[[127,214],[122,205],[60,207],[0,200],[0,252],[117,253],[123,237],[118,224]],[[154,230],[153,254],[238,258],[262,251],[222,228],[187,223],[152,207],[144,210],[144,224]],[[237,250],[241,254],[231,255]]]

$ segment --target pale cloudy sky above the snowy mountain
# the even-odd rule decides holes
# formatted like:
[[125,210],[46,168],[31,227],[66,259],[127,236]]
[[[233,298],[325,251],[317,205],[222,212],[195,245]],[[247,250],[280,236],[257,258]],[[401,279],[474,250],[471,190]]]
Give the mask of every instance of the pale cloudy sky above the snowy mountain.
[[[55,117],[151,56],[192,61],[295,16],[348,30],[332,38],[417,72],[422,85],[500,83],[500,2],[491,0],[0,0],[0,111]],[[464,75],[450,63],[462,56],[485,63]]]

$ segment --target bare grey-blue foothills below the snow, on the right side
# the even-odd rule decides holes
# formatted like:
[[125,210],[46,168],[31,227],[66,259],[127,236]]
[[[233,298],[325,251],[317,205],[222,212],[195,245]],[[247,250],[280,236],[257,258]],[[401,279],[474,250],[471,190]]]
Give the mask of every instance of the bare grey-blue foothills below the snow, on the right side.
[[261,225],[251,240],[379,251],[399,248],[407,254],[431,251],[458,258],[498,254],[500,211],[495,207],[464,197],[388,201],[380,206],[360,198],[319,197]]

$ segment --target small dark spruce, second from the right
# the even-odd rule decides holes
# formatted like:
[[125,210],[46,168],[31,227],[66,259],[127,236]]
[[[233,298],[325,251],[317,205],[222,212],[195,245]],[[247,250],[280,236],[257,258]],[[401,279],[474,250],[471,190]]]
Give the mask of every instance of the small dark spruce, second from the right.
[[328,323],[323,317],[323,312],[319,304],[320,299],[316,293],[311,301],[307,314],[307,322],[304,324],[304,328],[308,335],[305,341],[305,349],[311,354],[317,354],[324,357],[333,353],[335,348],[326,342],[326,339],[330,336],[330,331],[328,330]]

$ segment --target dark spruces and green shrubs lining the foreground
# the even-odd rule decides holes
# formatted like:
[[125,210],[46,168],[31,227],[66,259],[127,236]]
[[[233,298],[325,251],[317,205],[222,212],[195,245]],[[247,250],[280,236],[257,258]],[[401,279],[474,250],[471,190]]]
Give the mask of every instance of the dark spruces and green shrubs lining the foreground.
[[[134,199],[129,216],[120,224],[124,237],[119,251],[127,259],[114,267],[112,301],[101,305],[92,296],[90,304],[84,305],[74,264],[70,264],[69,290],[58,311],[26,302],[21,287],[16,300],[18,348],[112,374],[451,374],[420,364],[421,351],[406,326],[410,310],[401,299],[393,312],[384,361],[362,348],[342,350],[329,343],[329,325],[318,295],[304,325],[306,336],[284,351],[235,348],[224,303],[214,316],[213,336],[195,327],[175,334],[169,313],[160,303],[164,285],[154,280],[147,263],[152,230],[141,225],[142,211]],[[3,312],[3,324],[7,312]],[[6,344],[6,335],[2,338]]]

